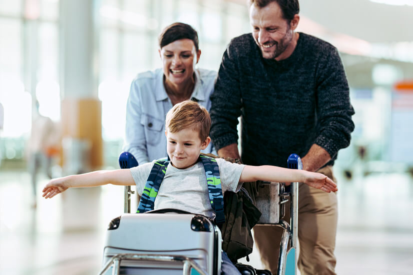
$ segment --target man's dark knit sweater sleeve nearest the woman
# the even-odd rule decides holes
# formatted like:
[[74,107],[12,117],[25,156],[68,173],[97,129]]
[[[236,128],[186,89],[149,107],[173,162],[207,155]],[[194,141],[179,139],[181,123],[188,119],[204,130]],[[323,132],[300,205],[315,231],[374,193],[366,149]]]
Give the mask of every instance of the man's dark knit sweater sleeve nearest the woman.
[[232,40],[223,54],[211,95],[210,135],[217,151],[238,142],[237,124],[242,106],[238,58],[236,43]]

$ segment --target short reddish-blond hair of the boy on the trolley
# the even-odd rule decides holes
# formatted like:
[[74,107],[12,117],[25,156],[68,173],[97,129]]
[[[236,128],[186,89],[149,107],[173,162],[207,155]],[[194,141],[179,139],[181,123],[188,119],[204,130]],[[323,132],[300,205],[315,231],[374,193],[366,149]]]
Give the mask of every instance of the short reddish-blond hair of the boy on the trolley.
[[165,119],[165,128],[170,132],[175,133],[188,127],[199,131],[201,141],[207,139],[211,128],[211,117],[207,109],[192,100],[175,104]]

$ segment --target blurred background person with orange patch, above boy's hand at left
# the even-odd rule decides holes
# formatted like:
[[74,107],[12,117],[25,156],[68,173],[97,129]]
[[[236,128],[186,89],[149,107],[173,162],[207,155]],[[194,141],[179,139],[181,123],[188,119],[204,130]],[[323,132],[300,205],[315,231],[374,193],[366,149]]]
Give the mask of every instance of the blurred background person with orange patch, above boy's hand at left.
[[28,167],[33,188],[32,206],[36,207],[37,174],[42,171],[48,178],[52,178],[53,158],[60,150],[59,126],[50,117],[39,112],[39,101],[36,101],[36,109],[32,117],[32,129],[26,148]]

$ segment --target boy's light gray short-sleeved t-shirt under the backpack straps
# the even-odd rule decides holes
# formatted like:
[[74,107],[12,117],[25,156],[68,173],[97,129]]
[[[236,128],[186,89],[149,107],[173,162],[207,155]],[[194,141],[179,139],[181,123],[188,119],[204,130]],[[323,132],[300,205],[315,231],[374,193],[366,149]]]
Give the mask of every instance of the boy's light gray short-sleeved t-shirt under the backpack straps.
[[[244,165],[231,163],[223,158],[216,158],[216,160],[221,177],[222,193],[226,190],[238,191],[241,188],[239,178]],[[155,160],[131,168],[139,195],[142,195],[154,162]],[[208,185],[202,162],[197,162],[186,169],[178,169],[169,163],[156,196],[154,208],[177,208],[213,218],[215,212],[209,202]]]

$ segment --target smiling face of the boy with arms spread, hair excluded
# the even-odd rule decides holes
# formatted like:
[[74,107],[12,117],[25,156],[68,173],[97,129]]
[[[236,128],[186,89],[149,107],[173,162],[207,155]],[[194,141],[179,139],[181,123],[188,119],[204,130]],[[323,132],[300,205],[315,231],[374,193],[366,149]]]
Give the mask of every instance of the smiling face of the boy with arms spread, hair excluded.
[[205,149],[211,138],[205,141],[199,138],[199,132],[190,127],[178,132],[165,131],[167,145],[166,149],[171,163],[174,167],[185,169],[194,165],[202,149]]

